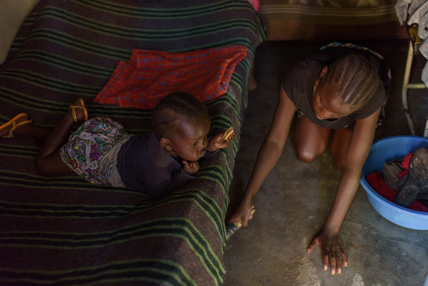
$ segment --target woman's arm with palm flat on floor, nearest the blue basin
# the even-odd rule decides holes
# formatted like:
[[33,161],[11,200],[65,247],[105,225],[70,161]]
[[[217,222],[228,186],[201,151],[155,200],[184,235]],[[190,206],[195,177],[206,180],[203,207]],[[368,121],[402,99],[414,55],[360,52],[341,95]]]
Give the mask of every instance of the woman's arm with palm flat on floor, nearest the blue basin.
[[328,261],[330,260],[330,271],[332,274],[336,272],[336,267],[338,273],[342,272],[340,256],[342,256],[343,264],[345,266],[348,265],[345,252],[342,249],[339,229],[360,184],[361,170],[369,155],[370,147],[375,137],[379,112],[380,109],[369,117],[357,120],[355,123],[333,208],[331,208],[330,215],[323,229],[309,244],[308,253],[314,249],[315,245],[320,245],[324,270],[327,270]]

